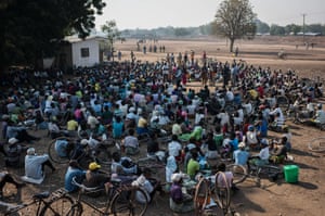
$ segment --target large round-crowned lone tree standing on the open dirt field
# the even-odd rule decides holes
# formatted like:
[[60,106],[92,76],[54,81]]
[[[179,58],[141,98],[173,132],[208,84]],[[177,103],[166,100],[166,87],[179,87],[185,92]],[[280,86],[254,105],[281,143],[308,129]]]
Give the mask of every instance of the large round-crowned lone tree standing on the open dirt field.
[[230,51],[233,52],[236,39],[252,39],[256,34],[256,14],[249,0],[224,0],[216,14],[218,35],[230,39]]

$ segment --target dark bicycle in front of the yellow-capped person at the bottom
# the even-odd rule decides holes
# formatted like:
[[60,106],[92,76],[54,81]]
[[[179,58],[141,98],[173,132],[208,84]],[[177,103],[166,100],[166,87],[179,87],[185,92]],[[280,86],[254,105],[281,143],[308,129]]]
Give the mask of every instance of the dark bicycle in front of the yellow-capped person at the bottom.
[[[147,196],[145,192],[138,187],[123,186],[120,181],[112,181],[112,186],[107,191],[107,201],[105,202],[104,209],[99,208],[89,201],[82,199],[83,194],[91,194],[96,192],[103,192],[105,189],[102,187],[88,188],[82,183],[79,183],[76,178],[73,179],[73,183],[79,187],[79,193],[75,203],[70,206],[65,215],[68,216],[81,216],[83,213],[83,205],[92,208],[99,215],[144,215],[147,208]],[[142,201],[138,201],[136,198],[141,196]],[[48,208],[46,208],[44,213]],[[50,209],[49,209],[50,211]]]

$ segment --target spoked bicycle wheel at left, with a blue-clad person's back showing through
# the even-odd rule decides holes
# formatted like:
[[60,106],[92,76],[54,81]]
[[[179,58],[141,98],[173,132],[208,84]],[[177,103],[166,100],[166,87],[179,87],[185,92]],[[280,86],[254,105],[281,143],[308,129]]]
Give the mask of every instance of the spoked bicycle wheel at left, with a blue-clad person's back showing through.
[[[58,143],[62,142],[62,143]],[[64,143],[65,142],[65,143]],[[69,140],[66,137],[53,139],[48,148],[50,158],[57,164],[67,164],[69,161]],[[61,155],[60,155],[61,154]]]

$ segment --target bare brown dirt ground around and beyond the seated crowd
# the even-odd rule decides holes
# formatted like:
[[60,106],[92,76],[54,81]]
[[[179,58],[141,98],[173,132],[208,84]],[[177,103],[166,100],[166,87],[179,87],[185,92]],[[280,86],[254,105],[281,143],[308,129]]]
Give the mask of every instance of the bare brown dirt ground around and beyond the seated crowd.
[[[235,46],[239,49],[237,60],[245,60],[248,64],[270,66],[271,69],[295,69],[300,77],[325,78],[325,38],[307,38],[308,41],[315,42],[314,48],[302,47],[302,38],[258,38],[252,41],[238,41]],[[146,46],[151,43],[147,41]],[[152,43],[153,45],[153,43]],[[195,58],[200,58],[203,51],[207,56],[222,62],[232,61],[234,56],[227,52],[225,40],[198,39],[198,40],[159,40],[158,47],[164,45],[166,52],[173,52],[177,56],[179,52],[190,52],[194,50]],[[296,47],[298,45],[298,49]],[[123,43],[117,43],[116,50],[122,52],[122,60],[130,60],[130,51],[133,50],[138,60],[158,61],[166,58],[166,53],[143,54],[136,52],[135,40],[127,40]],[[148,49],[147,49],[148,50]],[[284,50],[287,53],[286,60],[277,59],[278,51]],[[191,85],[191,84],[190,84]],[[321,100],[325,102],[325,100]],[[325,137],[325,132],[317,128],[306,127],[301,125],[291,125],[294,162],[299,166],[299,182],[287,183],[284,179],[277,182],[262,180],[262,186],[257,187],[252,180],[247,179],[239,187],[239,191],[232,196],[232,208],[242,216],[320,216],[325,212],[325,153],[312,153],[308,150],[310,140],[316,137]],[[39,154],[47,153],[47,147],[50,139],[46,131],[30,131],[42,137],[42,140],[31,144]],[[270,132],[270,136],[280,137],[281,134]],[[141,152],[144,155],[144,148]],[[3,160],[0,158],[0,165],[3,166]],[[54,191],[64,185],[64,165],[55,165],[57,170],[51,173],[47,170],[47,178],[41,186],[27,185],[18,191],[13,187],[5,187],[5,200],[12,203],[26,201],[32,193],[39,191]],[[24,169],[10,169],[9,171],[17,176],[24,175]],[[88,213],[87,215],[93,215]],[[173,215],[168,206],[168,194],[157,195],[150,206],[146,215],[169,216]],[[185,214],[191,215],[191,214]]]

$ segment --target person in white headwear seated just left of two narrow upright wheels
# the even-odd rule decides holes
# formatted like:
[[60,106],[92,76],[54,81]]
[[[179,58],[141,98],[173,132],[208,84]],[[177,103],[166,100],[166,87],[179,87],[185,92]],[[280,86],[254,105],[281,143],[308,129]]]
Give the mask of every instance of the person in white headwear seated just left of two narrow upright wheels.
[[187,213],[193,211],[193,198],[182,191],[183,175],[173,174],[171,176],[171,181],[169,207],[174,213]]

